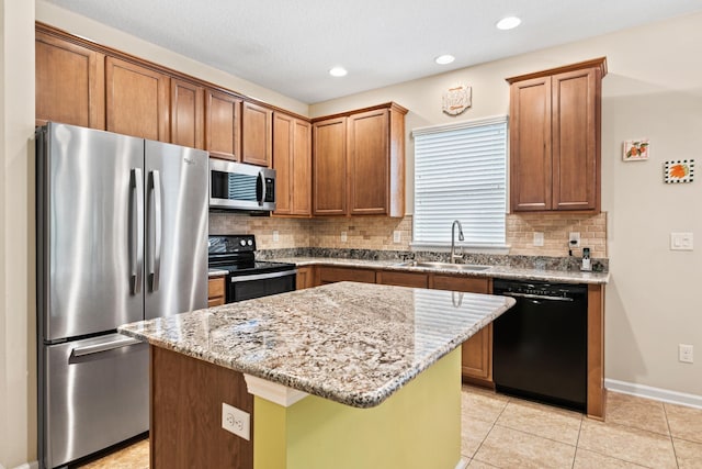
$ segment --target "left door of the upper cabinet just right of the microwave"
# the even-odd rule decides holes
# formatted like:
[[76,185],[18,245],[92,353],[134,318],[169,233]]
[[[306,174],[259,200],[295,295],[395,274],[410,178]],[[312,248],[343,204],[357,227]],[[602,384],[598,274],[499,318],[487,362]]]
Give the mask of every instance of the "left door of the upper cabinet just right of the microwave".
[[[275,212],[290,215],[293,202],[293,133],[295,118],[273,114],[273,169],[275,169]],[[299,273],[298,273],[299,279]],[[299,281],[298,281],[299,283]]]

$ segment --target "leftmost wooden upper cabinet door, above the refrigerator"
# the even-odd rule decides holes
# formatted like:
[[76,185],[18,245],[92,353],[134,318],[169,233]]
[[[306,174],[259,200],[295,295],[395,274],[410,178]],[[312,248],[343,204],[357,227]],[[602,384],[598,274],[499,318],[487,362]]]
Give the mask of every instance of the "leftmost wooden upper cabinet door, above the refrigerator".
[[48,121],[105,129],[104,55],[37,32],[36,125]]

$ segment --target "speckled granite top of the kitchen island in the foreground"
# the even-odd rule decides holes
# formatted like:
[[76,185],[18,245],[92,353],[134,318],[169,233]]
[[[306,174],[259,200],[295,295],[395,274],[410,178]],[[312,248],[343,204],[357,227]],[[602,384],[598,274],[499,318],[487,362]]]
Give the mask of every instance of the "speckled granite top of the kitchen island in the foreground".
[[118,331],[288,388],[371,407],[513,304],[507,297],[340,282]]

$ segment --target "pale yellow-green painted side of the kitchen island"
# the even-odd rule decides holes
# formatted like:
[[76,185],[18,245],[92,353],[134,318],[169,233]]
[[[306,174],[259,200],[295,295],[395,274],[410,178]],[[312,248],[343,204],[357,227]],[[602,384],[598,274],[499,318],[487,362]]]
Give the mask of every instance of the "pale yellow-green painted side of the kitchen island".
[[461,460],[460,349],[375,407],[254,399],[256,469],[454,469]]

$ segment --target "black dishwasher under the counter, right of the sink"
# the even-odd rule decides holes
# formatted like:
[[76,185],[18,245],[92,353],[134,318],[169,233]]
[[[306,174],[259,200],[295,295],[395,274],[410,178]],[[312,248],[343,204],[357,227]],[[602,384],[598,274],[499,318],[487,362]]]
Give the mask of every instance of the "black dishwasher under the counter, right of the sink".
[[496,390],[585,411],[587,286],[495,279],[492,292],[517,300],[494,322]]

